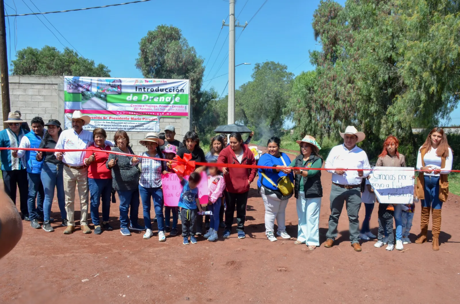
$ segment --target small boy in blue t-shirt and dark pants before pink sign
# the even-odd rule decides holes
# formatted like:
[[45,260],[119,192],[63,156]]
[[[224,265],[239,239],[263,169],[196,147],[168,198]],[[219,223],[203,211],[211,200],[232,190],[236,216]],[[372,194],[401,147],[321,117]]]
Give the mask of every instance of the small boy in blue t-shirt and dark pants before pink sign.
[[180,220],[182,221],[182,236],[184,237],[184,245],[196,244],[196,215],[198,210],[203,211],[201,208],[200,200],[198,199],[198,184],[201,181],[201,175],[193,172],[190,174],[189,180],[184,180],[183,176],[178,175],[180,184],[182,185],[182,192],[179,197]]

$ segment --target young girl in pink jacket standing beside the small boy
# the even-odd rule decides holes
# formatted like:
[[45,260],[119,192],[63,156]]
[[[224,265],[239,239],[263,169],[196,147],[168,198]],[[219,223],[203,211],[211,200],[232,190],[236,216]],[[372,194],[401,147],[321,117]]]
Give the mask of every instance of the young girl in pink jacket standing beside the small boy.
[[213,212],[213,215],[209,217],[209,230],[206,232],[204,237],[208,241],[213,242],[217,240],[217,231],[219,230],[219,211],[221,207],[221,200],[225,189],[224,177],[220,174],[220,170],[217,167],[209,167],[207,176],[207,196],[209,202],[207,203],[207,209]]

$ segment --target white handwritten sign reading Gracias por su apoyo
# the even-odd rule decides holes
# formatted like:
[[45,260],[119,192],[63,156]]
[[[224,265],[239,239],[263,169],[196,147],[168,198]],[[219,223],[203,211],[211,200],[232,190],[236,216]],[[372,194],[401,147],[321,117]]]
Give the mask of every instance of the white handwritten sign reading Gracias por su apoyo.
[[369,182],[383,204],[410,204],[414,196],[414,168],[372,167]]

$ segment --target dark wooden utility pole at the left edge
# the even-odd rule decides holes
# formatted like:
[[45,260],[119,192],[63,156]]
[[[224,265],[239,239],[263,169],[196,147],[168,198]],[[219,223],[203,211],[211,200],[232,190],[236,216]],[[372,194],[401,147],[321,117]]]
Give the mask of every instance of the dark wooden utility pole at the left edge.
[[[1,103],[3,111],[3,121],[8,120],[10,113],[10,84],[8,80],[8,58],[6,57],[6,27],[5,27],[5,4],[0,0],[0,81],[1,81]],[[3,128],[7,126],[3,123]]]

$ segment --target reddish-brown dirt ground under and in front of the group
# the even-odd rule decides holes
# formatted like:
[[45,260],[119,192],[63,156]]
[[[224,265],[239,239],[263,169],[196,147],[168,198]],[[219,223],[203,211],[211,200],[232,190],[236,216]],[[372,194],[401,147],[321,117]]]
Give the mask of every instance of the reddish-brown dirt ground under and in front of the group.
[[[327,172],[322,184],[321,243],[330,212]],[[387,252],[385,247],[374,248],[373,241],[362,243],[362,252],[354,252],[345,208],[332,248],[308,251],[305,245],[294,245],[294,238],[269,242],[264,233],[264,204],[255,182],[249,197],[247,238],[242,240],[234,229],[229,239],[208,242],[200,237],[197,244],[185,246],[180,235],[158,242],[156,231],[144,240],[143,232],[130,237],[118,230],[85,235],[77,226],[67,236],[58,223],[53,224],[55,232],[46,233],[24,222],[21,241],[0,261],[0,303],[460,302],[460,197],[449,195],[444,205],[438,252],[431,250],[431,242]],[[371,219],[374,234],[377,209]],[[57,203],[52,211],[59,218]],[[415,212],[413,242],[420,232],[420,205]],[[117,228],[118,215],[118,203],[112,204],[110,216]],[[359,215],[363,218],[364,208]],[[76,212],[75,219],[79,217]],[[291,198],[286,224],[294,237],[297,222]],[[431,239],[431,231],[428,235]]]

